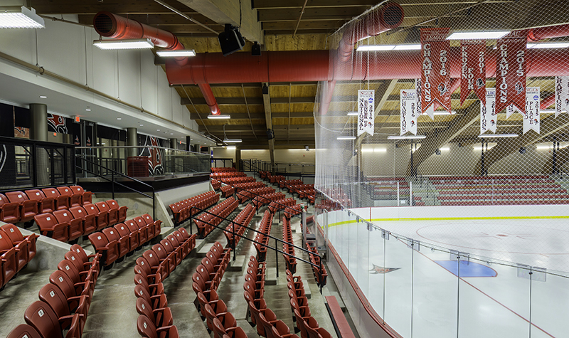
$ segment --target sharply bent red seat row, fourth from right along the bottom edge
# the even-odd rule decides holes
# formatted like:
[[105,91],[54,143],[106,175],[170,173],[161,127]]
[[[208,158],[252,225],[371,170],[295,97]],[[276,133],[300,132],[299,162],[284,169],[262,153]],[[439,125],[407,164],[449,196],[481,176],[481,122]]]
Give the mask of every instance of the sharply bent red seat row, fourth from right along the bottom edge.
[[142,337],[179,337],[162,281],[195,247],[196,235],[189,236],[185,228],[179,228],[137,258],[134,294],[139,313],[137,329]]

